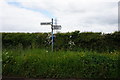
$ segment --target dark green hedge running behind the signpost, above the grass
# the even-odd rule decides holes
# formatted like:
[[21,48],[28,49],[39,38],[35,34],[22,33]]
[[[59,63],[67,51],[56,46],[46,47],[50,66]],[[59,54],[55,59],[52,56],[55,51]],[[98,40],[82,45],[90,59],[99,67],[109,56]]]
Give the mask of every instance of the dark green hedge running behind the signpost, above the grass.
[[[3,33],[3,49],[44,48],[50,49],[50,33]],[[114,52],[120,50],[120,32],[111,34],[79,31],[57,33],[54,38],[55,50]]]

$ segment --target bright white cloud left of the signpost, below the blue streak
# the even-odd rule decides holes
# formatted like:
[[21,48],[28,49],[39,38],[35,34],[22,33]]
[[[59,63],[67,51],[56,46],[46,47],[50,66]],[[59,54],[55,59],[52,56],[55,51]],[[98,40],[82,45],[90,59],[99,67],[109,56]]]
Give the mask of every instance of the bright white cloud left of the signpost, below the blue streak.
[[50,31],[41,28],[41,21],[48,21],[49,18],[41,13],[17,8],[2,2],[2,31]]

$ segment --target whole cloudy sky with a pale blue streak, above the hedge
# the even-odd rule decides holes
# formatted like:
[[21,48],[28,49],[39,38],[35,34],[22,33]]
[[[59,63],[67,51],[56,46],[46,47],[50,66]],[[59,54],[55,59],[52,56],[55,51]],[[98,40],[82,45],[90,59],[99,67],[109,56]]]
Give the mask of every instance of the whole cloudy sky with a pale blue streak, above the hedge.
[[0,32],[50,32],[57,18],[58,32],[118,30],[119,0],[0,0]]

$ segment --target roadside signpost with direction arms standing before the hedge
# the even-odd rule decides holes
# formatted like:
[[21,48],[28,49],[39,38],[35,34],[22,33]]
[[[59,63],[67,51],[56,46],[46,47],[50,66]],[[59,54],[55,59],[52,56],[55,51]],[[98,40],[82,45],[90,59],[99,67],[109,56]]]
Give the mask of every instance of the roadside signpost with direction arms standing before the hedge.
[[53,30],[59,30],[61,29],[61,25],[57,25],[57,20],[55,20],[55,25],[53,25],[53,18],[52,18],[52,22],[42,22],[41,25],[51,25],[51,35],[52,35],[52,51],[54,49],[54,42],[53,42]]

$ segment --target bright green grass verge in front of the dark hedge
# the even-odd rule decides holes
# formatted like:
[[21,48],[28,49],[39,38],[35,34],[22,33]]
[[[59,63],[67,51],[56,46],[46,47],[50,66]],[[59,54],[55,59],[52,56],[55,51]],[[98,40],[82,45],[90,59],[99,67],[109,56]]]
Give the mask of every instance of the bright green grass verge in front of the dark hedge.
[[114,53],[3,50],[3,76],[31,78],[118,78]]

